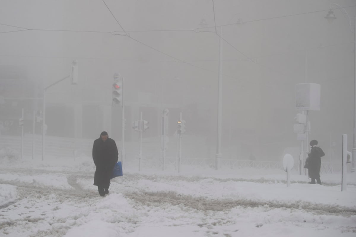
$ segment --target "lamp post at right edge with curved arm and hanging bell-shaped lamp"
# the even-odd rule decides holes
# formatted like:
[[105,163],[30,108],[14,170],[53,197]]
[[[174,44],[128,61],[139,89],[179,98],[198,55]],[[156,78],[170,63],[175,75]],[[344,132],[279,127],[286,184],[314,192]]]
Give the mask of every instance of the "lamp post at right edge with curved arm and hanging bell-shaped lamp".
[[[352,28],[351,18],[349,16],[349,14],[347,14],[346,10],[344,8],[342,8],[339,4],[332,2],[329,5],[330,11],[324,17],[329,22],[332,22],[334,19],[336,19],[336,16],[334,15],[334,11],[333,11],[333,5],[340,8],[340,10],[344,14],[345,18],[349,21],[350,31],[354,32],[354,44],[355,44],[355,48],[354,48],[354,130],[353,130],[354,140],[353,140],[353,146],[352,146],[352,157],[356,157],[356,135],[355,135],[356,134],[356,128],[355,128],[355,126],[356,126],[356,16],[354,17],[354,28]],[[355,172],[355,169],[356,169],[356,159],[353,158],[351,172]]]

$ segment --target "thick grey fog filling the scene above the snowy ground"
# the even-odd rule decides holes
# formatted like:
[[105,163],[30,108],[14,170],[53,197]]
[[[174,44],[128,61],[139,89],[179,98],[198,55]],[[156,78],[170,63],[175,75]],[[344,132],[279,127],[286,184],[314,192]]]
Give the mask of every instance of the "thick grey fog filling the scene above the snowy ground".
[[[93,140],[105,130],[121,147],[122,107],[112,106],[118,73],[129,158],[138,153],[131,123],[141,112],[149,122],[143,156],[159,154],[164,108],[167,156],[176,155],[182,113],[182,156],[213,158],[220,80],[222,158],[279,161],[300,150],[293,132],[302,113],[296,84],[314,83],[321,88],[320,110],[308,112],[309,141],[319,141],[326,161],[340,160],[342,134],[349,150],[353,140],[356,1],[331,2],[2,0],[1,135],[21,136],[23,108],[31,137],[33,111],[40,115],[46,89],[46,136]],[[78,84],[68,77],[51,86],[71,74],[73,60]],[[38,139],[41,125],[35,123]]]

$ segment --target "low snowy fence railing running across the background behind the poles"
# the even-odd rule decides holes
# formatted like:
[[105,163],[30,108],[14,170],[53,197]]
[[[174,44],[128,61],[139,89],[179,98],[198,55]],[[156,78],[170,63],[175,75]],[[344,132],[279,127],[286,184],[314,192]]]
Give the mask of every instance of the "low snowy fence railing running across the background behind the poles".
[[[31,134],[26,134],[24,136],[24,154],[32,155],[32,140]],[[130,144],[127,144],[130,145]],[[131,144],[132,145],[132,144]],[[74,139],[74,138],[61,138],[54,136],[46,136],[46,155],[52,155],[55,157],[75,157],[79,155],[86,155],[91,157],[91,149],[93,146],[93,140],[91,139]],[[21,150],[21,137],[19,136],[0,136],[0,149],[11,147],[14,150]],[[128,164],[136,165],[138,163],[138,157],[134,152],[136,146],[130,147],[126,152],[126,162]],[[159,156],[159,149],[152,150],[152,144],[147,145],[151,157],[143,158],[142,165],[158,168],[162,167],[162,157]],[[130,152],[130,151],[131,152]],[[148,151],[148,150],[147,150]],[[42,152],[42,136],[35,136],[35,155],[41,155]],[[119,155],[120,156],[120,155]],[[176,167],[177,161],[176,157],[166,157],[167,167]],[[183,157],[181,159],[182,165],[189,166],[209,166],[215,167],[214,158],[194,158],[194,157]],[[229,168],[256,168],[256,169],[282,169],[282,162],[278,161],[251,161],[251,160],[237,160],[237,159],[221,159],[221,167]],[[297,165],[294,166],[297,168]],[[333,173],[335,171],[341,170],[341,164],[336,165],[331,162],[322,162],[320,173]]]

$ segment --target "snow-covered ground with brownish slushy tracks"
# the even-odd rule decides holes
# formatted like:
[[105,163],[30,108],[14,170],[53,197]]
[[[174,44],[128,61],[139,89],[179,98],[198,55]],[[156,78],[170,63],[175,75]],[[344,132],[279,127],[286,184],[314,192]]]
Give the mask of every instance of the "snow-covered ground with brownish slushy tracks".
[[0,160],[0,236],[352,236],[356,174],[323,185],[283,170],[124,166],[110,194],[93,185],[91,157]]

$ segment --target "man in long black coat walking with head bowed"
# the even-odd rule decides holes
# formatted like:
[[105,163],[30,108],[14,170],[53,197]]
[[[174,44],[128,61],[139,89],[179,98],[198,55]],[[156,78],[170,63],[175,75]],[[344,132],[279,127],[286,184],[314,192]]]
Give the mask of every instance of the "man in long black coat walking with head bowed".
[[100,196],[109,193],[110,178],[118,155],[115,141],[109,138],[106,131],[103,131],[93,145],[93,160],[96,166],[94,185],[98,186]]

